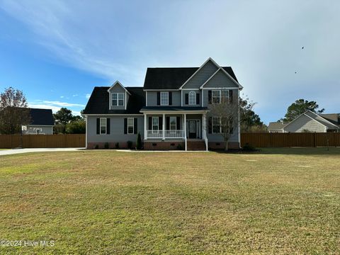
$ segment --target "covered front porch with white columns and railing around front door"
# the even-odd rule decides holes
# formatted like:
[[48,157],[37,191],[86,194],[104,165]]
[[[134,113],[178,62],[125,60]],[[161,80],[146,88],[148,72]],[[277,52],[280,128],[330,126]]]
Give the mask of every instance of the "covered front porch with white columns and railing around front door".
[[206,111],[148,111],[144,112],[144,118],[145,142],[182,141],[187,149],[187,140],[200,140],[205,142],[205,149],[208,148]]

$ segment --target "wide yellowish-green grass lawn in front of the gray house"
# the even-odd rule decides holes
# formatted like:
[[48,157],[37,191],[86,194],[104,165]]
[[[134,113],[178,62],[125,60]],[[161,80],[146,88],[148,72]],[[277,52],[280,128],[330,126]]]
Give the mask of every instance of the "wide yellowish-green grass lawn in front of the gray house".
[[0,157],[0,254],[339,254],[340,149]]

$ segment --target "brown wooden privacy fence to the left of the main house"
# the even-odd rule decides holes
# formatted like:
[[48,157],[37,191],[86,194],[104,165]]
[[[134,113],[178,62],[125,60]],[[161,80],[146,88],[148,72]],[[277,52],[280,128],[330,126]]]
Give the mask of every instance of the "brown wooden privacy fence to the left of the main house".
[[0,149],[85,147],[84,134],[0,135]]

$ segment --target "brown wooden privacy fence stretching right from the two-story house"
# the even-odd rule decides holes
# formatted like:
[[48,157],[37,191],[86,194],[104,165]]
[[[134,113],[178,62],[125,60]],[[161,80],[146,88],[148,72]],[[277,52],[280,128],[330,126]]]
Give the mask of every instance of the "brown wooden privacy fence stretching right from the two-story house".
[[340,147],[340,133],[242,133],[241,146]]

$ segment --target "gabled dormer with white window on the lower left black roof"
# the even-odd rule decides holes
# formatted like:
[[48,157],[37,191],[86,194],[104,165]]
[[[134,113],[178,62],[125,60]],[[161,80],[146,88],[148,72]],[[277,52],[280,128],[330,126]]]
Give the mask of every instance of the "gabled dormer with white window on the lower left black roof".
[[126,110],[131,94],[119,81],[108,89],[108,94],[110,110]]

